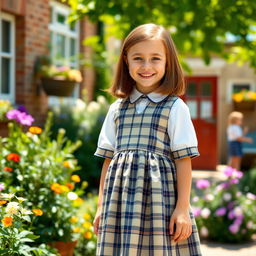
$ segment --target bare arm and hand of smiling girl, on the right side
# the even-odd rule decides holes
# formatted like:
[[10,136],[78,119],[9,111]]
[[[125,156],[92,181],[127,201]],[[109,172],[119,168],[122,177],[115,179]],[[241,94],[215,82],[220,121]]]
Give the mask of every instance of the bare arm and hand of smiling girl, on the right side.
[[[178,200],[170,221],[170,233],[173,240],[179,242],[187,239],[192,233],[192,222],[189,215],[192,169],[190,157],[175,160],[177,169]],[[174,225],[175,230],[174,230]]]

